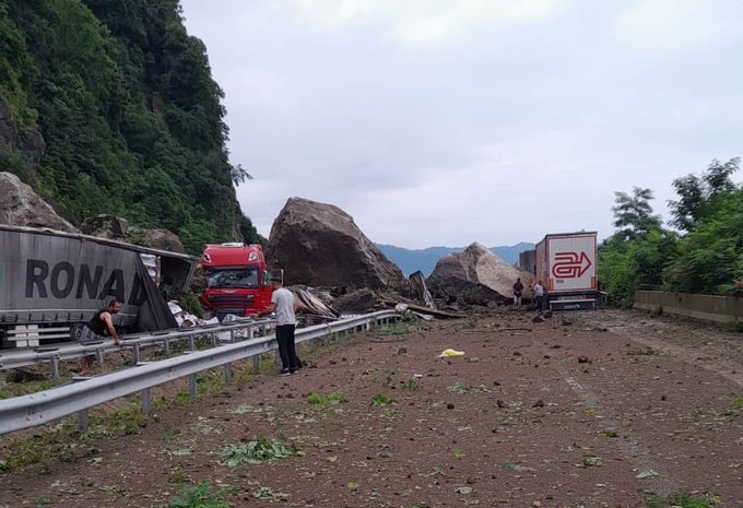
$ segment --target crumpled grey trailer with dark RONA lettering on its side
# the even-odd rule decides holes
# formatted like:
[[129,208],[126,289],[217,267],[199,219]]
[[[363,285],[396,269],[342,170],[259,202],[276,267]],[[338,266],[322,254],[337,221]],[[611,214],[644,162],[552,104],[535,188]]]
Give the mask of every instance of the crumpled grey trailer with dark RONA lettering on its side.
[[157,257],[158,279],[185,290],[196,258],[94,236],[0,225],[0,344],[74,339],[111,298],[126,332],[175,328],[141,255]]

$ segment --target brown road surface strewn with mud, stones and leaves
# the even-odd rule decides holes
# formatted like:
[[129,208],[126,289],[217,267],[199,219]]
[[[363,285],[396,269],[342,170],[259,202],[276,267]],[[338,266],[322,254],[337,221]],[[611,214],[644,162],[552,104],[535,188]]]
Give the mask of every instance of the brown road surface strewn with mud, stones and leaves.
[[[373,331],[89,458],[0,474],[0,507],[167,506],[199,482],[233,506],[743,506],[740,335],[623,311],[530,318]],[[223,464],[258,436],[300,454]]]

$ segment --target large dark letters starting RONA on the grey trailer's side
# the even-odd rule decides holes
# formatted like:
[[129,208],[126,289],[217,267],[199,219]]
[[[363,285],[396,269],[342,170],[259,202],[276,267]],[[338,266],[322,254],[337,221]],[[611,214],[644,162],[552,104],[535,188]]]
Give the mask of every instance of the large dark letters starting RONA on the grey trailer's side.
[[123,270],[120,269],[111,270],[104,280],[102,265],[91,269],[89,264],[82,263],[75,270],[71,263],[61,261],[49,270],[49,263],[40,259],[26,261],[26,298],[102,300],[109,296],[137,307],[148,300],[142,277],[138,273],[132,275],[127,286]]

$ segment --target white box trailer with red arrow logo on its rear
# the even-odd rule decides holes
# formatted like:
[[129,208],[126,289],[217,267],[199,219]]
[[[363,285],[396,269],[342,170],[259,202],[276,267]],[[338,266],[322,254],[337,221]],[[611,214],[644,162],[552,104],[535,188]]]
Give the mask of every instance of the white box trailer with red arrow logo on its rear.
[[546,235],[536,244],[536,279],[553,310],[595,308],[599,300],[597,234]]

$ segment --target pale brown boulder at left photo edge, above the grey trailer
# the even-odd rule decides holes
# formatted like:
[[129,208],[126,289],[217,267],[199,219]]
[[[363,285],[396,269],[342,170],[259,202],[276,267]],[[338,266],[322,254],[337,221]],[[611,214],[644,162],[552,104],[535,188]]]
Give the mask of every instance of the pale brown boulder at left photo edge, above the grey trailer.
[[12,173],[0,173],[0,224],[80,233]]

